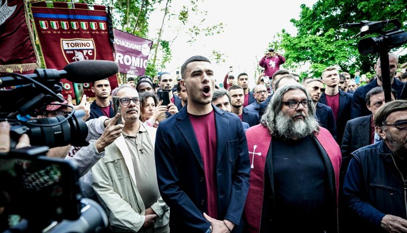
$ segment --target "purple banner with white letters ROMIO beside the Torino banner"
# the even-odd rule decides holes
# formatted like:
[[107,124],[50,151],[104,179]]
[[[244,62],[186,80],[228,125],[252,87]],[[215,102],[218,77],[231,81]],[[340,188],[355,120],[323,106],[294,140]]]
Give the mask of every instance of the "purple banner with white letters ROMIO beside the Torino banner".
[[147,68],[152,41],[114,29],[115,61],[119,71],[125,74],[143,76]]

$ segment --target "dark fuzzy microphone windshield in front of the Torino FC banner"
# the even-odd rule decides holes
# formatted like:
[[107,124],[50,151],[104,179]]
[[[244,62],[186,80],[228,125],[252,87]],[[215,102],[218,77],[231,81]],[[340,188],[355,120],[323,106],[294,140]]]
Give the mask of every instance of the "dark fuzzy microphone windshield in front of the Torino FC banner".
[[119,72],[119,66],[112,61],[86,60],[69,63],[64,78],[71,82],[85,83],[109,78]]

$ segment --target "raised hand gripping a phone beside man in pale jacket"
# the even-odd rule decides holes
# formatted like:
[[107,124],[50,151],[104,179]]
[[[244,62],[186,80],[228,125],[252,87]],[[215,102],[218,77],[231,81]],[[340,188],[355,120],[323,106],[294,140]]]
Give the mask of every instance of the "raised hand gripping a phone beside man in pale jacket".
[[99,153],[103,152],[105,147],[112,144],[113,141],[115,141],[122,134],[124,125],[115,125],[117,119],[119,119],[119,116],[120,114],[117,113],[116,116],[111,119],[109,124],[106,126],[105,131],[103,131],[102,136],[95,141],[95,147]]

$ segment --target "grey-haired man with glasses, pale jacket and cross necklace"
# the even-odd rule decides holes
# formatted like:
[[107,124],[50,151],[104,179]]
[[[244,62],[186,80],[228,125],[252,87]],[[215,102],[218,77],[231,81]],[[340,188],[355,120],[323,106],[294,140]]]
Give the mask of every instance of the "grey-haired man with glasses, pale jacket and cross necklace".
[[155,170],[156,129],[139,120],[140,97],[131,85],[121,85],[112,95],[120,98],[124,128],[92,167],[92,187],[113,232],[169,233],[169,208]]

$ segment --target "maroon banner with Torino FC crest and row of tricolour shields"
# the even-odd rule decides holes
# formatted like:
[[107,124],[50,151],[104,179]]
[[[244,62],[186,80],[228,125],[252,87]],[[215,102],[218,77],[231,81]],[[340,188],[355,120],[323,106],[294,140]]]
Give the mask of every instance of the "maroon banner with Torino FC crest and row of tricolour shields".
[[[45,7],[42,2],[31,5],[47,68],[62,70],[68,63],[83,60],[114,61],[104,6],[90,10],[86,4],[78,3],[75,3],[75,9],[67,8],[66,2],[54,5],[58,8]],[[62,94],[74,97],[72,83],[66,79],[62,81]],[[112,89],[118,86],[116,75],[109,81]],[[83,87],[84,94],[94,96],[89,83],[84,83]]]

